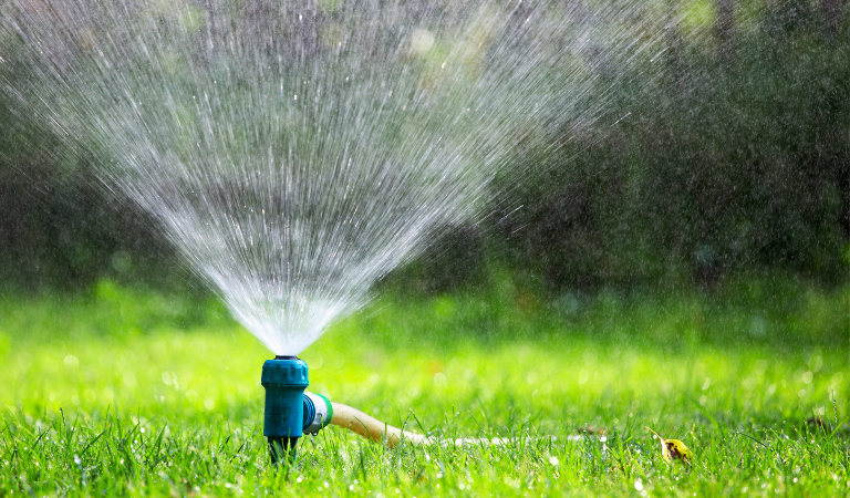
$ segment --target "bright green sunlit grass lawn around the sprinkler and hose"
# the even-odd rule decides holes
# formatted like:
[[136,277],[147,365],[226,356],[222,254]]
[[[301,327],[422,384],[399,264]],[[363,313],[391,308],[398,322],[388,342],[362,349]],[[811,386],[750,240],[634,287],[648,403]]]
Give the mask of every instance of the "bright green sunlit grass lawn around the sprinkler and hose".
[[512,443],[387,449],[331,427],[286,471],[262,438],[270,354],[219,303],[107,281],[4,294],[0,497],[848,495],[850,291],[773,288],[382,298],[302,354],[310,388]]

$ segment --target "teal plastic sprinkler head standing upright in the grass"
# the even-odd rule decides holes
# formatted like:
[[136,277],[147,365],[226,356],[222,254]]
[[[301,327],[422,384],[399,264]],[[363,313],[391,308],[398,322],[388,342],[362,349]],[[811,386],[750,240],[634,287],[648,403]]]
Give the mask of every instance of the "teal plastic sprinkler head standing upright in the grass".
[[284,457],[296,459],[298,438],[315,434],[333,416],[331,402],[324,396],[304,393],[307,363],[296,356],[276,356],[262,365],[260,383],[266,388],[266,416],[262,434],[269,440],[271,463]]

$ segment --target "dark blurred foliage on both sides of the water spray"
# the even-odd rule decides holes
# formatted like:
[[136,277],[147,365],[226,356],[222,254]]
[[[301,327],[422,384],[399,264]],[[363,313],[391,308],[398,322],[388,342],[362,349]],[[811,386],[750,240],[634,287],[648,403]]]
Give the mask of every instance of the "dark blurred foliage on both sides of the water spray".
[[[263,3],[247,0],[247,19]],[[320,2],[317,23],[336,4]],[[602,86],[610,71],[635,74],[610,79],[601,115],[580,133],[529,131],[484,219],[452,228],[381,286],[481,291],[508,273],[520,308],[776,276],[846,286],[847,2],[670,0],[656,10],[667,28],[652,71],[588,58]],[[0,71],[12,86],[27,77]],[[102,191],[93,158],[21,112],[0,101],[0,286],[193,288],[155,222]]]

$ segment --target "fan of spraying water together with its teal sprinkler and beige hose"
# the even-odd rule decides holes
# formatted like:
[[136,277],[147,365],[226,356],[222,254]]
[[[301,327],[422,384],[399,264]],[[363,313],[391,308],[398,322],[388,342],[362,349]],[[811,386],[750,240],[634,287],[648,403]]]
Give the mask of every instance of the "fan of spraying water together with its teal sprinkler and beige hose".
[[274,461],[328,424],[427,440],[304,393],[297,355],[478,217],[518,143],[592,127],[610,68],[652,56],[664,20],[618,0],[174,3],[0,3],[0,92],[70,156],[96,152],[96,180],[277,355]]

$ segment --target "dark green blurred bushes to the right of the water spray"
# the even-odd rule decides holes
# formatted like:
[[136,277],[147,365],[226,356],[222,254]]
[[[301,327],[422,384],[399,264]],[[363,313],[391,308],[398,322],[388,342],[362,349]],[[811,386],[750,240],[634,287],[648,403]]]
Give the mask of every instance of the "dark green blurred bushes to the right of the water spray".
[[797,3],[737,32],[728,60],[675,38],[662,77],[613,90],[610,132],[522,151],[522,176],[502,183],[505,214],[522,208],[496,217],[511,262],[554,288],[711,287],[744,270],[846,282],[848,27]]

